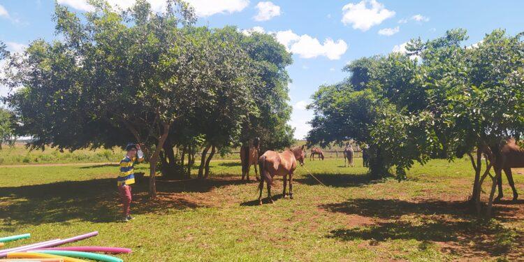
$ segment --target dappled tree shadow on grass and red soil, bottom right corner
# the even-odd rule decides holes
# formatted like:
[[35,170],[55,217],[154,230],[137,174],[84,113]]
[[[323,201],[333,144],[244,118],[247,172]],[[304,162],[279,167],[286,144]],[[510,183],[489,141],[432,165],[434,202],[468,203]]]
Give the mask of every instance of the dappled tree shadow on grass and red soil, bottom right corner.
[[[356,214],[377,220],[377,224],[372,226],[330,231],[328,238],[370,240],[370,243],[386,240],[446,242],[442,247],[444,251],[461,256],[482,256],[486,253],[508,257],[523,255],[523,232],[500,224],[500,220],[515,220],[514,217],[476,219],[470,205],[461,201],[409,202],[359,198],[320,207],[330,212]],[[495,214],[507,214],[509,208],[497,206],[494,211]],[[403,215],[415,215],[417,219],[405,221],[400,219]]]

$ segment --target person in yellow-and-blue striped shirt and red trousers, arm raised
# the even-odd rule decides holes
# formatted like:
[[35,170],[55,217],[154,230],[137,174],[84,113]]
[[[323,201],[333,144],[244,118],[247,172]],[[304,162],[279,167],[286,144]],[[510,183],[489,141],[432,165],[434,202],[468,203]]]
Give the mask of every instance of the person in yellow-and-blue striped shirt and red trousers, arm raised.
[[[120,194],[120,201],[123,205],[123,212],[124,212],[124,221],[129,221],[133,219],[130,214],[130,208],[131,205],[131,184],[135,183],[135,175],[134,175],[134,163],[135,161],[141,162],[144,160],[144,154],[142,150],[140,150],[140,145],[138,144],[128,144],[126,146],[127,154],[120,161],[120,174],[117,179],[117,185],[118,185],[118,192]],[[136,158],[138,155],[138,159]]]

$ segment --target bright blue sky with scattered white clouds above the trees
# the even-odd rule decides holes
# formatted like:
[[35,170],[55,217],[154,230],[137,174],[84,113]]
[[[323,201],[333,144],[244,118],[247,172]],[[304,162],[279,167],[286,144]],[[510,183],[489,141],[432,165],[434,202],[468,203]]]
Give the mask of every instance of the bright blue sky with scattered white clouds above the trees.
[[[163,0],[148,0],[161,10]],[[128,6],[126,0],[109,0]],[[254,1],[189,0],[195,6],[199,25],[275,34],[293,52],[288,71],[296,138],[303,138],[312,112],[305,110],[311,94],[326,83],[338,82],[347,73],[345,64],[373,54],[402,52],[411,38],[435,38],[447,29],[465,28],[470,45],[493,29],[509,34],[524,31],[524,1],[449,0],[344,0],[344,1]],[[71,10],[89,10],[85,0],[59,0]],[[14,52],[36,38],[51,41],[54,36],[51,0],[0,0],[0,40]],[[8,92],[0,87],[0,96]]]

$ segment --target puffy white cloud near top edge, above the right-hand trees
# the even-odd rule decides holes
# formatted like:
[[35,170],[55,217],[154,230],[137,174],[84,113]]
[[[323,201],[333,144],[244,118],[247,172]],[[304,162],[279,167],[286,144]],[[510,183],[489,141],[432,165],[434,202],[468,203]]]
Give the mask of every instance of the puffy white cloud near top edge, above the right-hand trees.
[[371,27],[395,15],[377,0],[363,0],[358,3],[348,3],[342,7],[342,22],[352,24],[353,29],[367,31]]

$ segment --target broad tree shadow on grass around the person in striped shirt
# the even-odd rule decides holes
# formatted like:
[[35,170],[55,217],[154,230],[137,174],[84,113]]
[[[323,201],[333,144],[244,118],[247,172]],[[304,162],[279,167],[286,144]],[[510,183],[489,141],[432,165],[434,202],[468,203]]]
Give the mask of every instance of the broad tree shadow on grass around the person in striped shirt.
[[[187,192],[208,192],[215,187],[241,184],[237,180],[189,180],[157,182],[158,198],[147,194],[147,183],[133,186],[133,214],[208,206]],[[97,223],[121,219],[115,179],[66,181],[22,187],[0,187],[0,219],[15,224],[67,223],[74,219]]]

